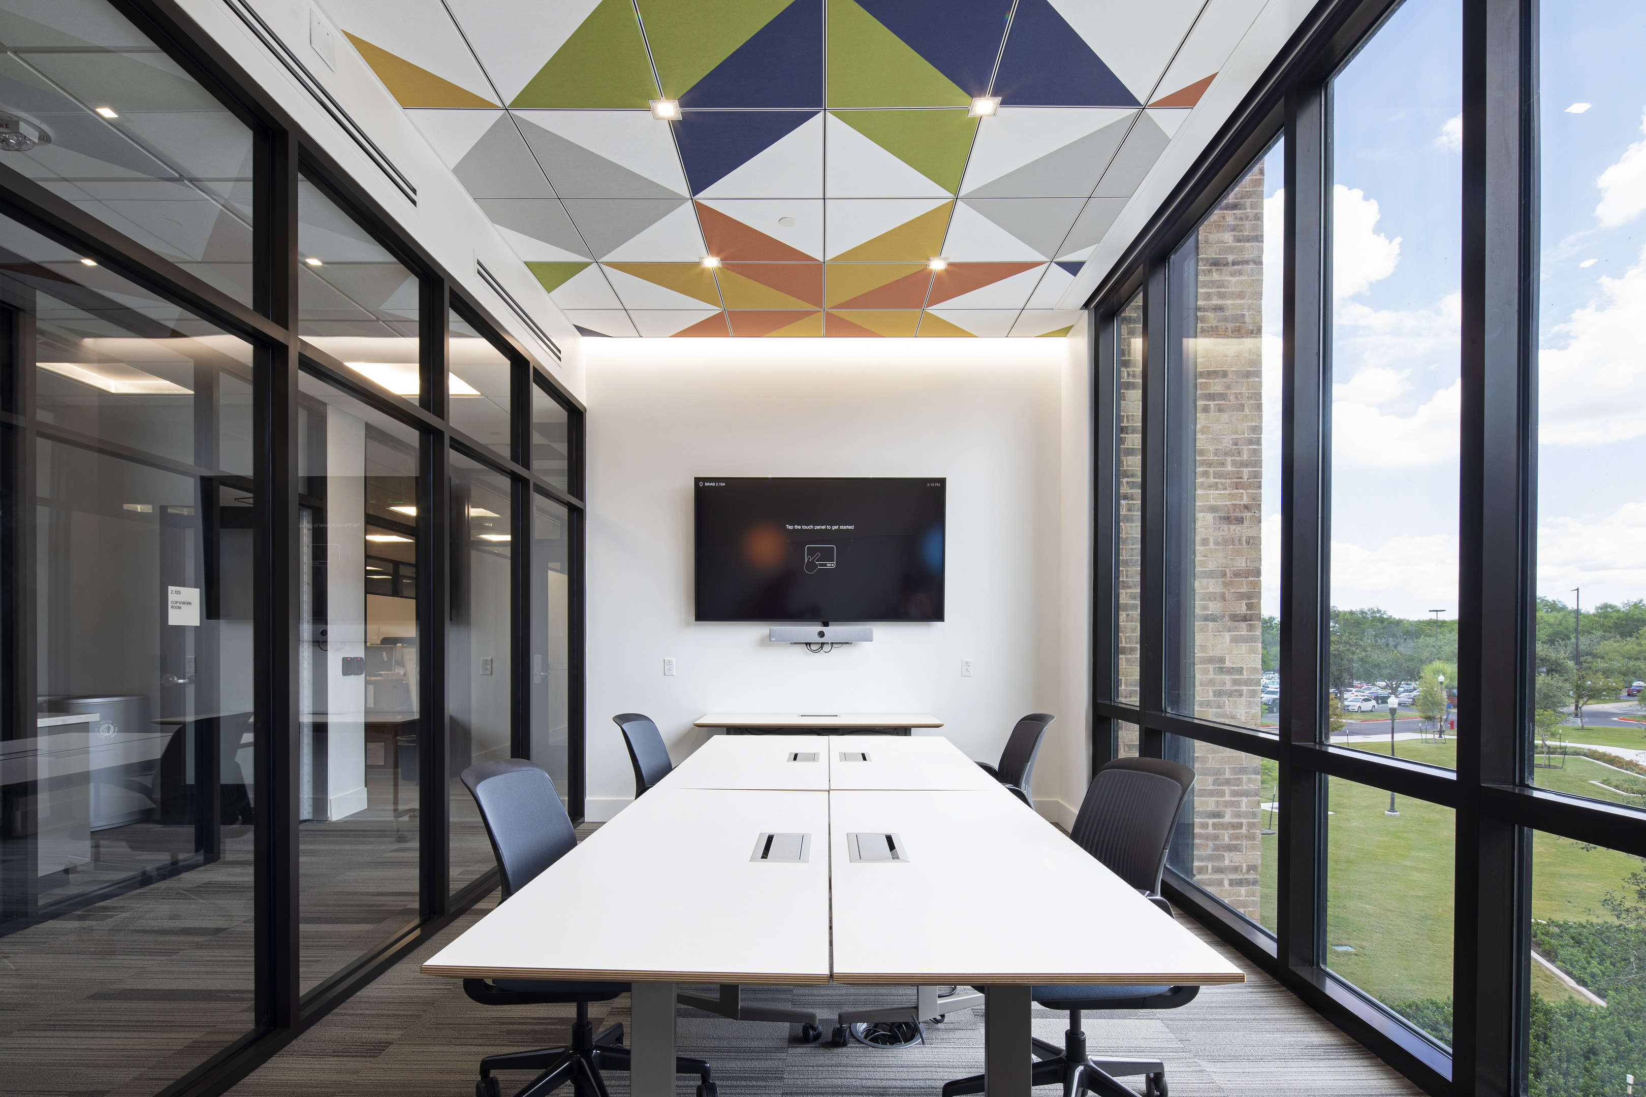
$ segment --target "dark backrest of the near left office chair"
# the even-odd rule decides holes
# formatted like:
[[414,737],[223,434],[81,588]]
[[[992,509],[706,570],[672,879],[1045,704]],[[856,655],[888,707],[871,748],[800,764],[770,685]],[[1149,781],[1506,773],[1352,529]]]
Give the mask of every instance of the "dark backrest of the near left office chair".
[[578,844],[553,778],[537,763],[482,761],[463,771],[463,783],[486,822],[505,900]]

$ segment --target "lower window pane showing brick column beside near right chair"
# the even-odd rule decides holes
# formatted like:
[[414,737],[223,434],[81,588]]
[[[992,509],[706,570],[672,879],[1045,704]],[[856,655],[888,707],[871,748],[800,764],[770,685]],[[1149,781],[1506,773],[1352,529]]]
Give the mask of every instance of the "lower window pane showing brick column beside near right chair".
[[1279,763],[1172,734],[1164,753],[1195,771],[1165,863],[1274,933]]

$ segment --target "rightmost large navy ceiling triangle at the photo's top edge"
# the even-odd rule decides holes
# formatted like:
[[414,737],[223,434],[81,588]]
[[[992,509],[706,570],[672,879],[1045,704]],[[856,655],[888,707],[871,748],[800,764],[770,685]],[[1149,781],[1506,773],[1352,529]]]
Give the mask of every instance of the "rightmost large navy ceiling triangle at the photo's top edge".
[[1017,0],[994,94],[1021,107],[1141,107],[1049,0]]

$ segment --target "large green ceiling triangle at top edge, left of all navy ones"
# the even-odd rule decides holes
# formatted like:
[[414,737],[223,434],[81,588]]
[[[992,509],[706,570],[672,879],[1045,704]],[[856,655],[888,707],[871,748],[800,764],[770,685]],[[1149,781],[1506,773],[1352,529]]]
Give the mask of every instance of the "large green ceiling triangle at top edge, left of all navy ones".
[[652,99],[657,79],[632,0],[601,0],[509,105],[647,109]]

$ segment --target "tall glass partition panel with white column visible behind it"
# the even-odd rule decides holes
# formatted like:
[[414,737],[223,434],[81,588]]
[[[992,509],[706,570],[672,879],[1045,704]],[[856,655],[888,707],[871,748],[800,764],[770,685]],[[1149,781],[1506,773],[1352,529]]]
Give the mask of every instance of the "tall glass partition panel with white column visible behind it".
[[420,742],[430,732],[418,689],[418,434],[308,373],[300,388],[306,992],[416,921]]

